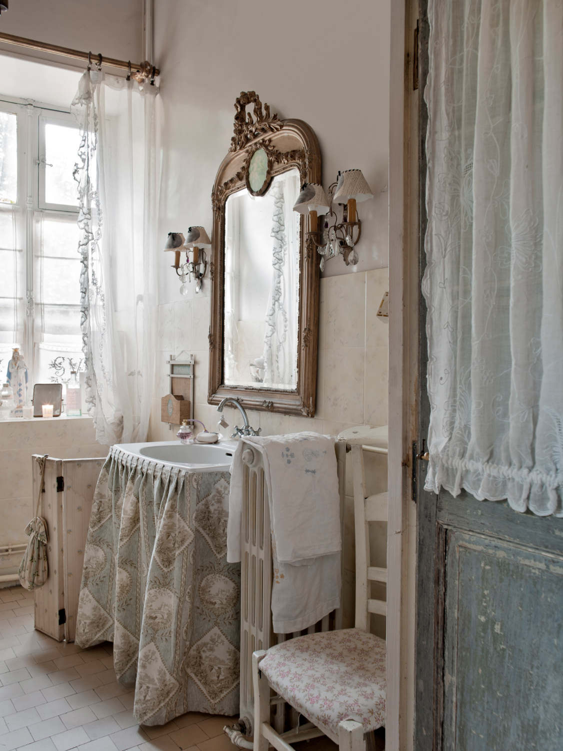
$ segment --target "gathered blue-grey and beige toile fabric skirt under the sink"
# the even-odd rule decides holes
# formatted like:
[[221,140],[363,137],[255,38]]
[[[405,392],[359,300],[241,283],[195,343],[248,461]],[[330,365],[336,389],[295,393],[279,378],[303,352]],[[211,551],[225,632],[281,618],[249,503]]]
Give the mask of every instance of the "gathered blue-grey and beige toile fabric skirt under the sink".
[[114,446],[84,551],[76,644],[113,642],[133,713],[238,712],[240,563],[226,562],[229,472],[188,472]]

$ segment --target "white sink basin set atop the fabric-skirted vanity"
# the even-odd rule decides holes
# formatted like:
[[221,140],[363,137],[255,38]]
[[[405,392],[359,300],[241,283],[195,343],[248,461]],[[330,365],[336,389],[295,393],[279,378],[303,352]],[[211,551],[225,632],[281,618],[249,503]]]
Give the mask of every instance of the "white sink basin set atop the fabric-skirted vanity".
[[181,466],[198,472],[223,471],[229,469],[236,443],[220,441],[210,445],[199,443],[182,444],[179,441],[154,443],[124,443],[119,448],[142,459],[154,459],[157,462]]

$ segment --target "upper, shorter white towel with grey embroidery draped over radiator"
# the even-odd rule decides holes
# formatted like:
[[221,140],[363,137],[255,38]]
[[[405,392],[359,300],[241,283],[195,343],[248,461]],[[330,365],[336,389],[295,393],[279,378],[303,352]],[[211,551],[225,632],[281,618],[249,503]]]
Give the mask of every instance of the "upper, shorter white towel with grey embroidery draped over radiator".
[[264,459],[270,499],[272,556],[283,563],[342,549],[340,495],[334,438],[318,433],[247,436],[232,461],[227,560],[241,559],[242,451],[244,443]]

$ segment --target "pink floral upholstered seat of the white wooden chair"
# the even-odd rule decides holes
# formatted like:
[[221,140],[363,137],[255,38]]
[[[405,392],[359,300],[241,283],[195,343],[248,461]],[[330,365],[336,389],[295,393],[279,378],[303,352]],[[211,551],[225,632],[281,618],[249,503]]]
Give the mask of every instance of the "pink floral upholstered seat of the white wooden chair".
[[270,686],[319,729],[338,735],[354,719],[364,732],[385,725],[385,641],[359,629],[300,636],[260,662]]

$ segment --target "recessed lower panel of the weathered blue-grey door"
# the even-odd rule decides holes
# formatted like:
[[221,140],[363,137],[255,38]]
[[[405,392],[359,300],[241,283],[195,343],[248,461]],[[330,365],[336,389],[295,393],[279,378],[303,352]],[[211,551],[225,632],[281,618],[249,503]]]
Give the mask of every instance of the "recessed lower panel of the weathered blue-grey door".
[[445,571],[444,749],[562,749],[563,556],[448,529]]

